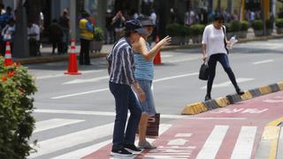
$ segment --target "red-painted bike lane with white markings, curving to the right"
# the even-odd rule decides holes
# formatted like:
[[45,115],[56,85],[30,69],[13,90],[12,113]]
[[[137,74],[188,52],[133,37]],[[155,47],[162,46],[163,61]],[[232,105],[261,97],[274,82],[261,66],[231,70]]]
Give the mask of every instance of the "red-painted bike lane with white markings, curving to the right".
[[[264,126],[282,116],[280,91],[176,119],[154,141],[157,149],[132,158],[254,158]],[[84,158],[111,158],[110,151],[111,144]]]

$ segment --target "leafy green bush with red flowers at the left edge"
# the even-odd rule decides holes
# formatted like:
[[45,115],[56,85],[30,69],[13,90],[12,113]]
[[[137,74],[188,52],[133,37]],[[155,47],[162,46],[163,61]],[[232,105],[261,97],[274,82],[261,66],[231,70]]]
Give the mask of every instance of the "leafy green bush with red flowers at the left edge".
[[28,140],[34,130],[34,79],[20,64],[4,66],[0,57],[0,158],[22,159],[29,155]]

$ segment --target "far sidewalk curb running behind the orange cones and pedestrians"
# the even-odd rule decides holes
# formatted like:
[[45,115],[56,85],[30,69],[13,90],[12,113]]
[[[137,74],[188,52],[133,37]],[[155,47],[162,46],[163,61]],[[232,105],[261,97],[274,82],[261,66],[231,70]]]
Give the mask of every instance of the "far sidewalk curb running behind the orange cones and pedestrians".
[[[279,35],[269,35],[269,36],[261,36],[253,39],[240,39],[239,43],[244,42],[256,42],[256,41],[265,41],[270,39],[280,39],[283,38],[283,34]],[[173,49],[195,49],[201,47],[201,44],[190,44],[190,45],[178,45],[178,46],[167,46],[161,49],[163,50],[173,50]],[[107,53],[95,53],[89,54],[89,57],[106,57]],[[41,63],[50,63],[50,62],[58,62],[58,61],[67,61],[69,58],[68,54],[60,57],[27,57],[27,58],[19,58],[13,59],[13,61],[20,64],[41,64]]]

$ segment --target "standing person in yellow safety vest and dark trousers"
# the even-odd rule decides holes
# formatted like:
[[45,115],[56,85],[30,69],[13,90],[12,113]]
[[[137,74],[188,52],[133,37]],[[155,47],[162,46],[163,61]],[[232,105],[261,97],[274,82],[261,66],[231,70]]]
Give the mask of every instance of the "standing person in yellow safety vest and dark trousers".
[[91,65],[89,59],[89,45],[94,39],[95,27],[89,20],[88,12],[81,13],[81,19],[79,22],[80,27],[80,65]]

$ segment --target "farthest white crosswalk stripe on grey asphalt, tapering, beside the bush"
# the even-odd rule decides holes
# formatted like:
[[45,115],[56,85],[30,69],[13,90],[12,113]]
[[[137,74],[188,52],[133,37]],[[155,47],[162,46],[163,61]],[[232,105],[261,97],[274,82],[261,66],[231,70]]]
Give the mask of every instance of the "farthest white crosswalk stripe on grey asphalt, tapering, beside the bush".
[[65,118],[52,118],[50,120],[44,120],[35,123],[34,133],[39,133],[45,130],[57,128],[65,125],[73,125],[80,122],[84,122],[85,120],[73,120],[73,119],[65,119]]

